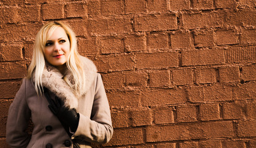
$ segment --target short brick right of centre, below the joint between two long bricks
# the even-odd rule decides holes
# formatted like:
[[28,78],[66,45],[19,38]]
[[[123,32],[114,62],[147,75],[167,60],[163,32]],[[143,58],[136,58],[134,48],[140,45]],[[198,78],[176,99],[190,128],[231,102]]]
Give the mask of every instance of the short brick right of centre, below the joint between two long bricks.
[[193,72],[191,69],[179,69],[171,71],[173,84],[175,85],[186,85],[194,84]]

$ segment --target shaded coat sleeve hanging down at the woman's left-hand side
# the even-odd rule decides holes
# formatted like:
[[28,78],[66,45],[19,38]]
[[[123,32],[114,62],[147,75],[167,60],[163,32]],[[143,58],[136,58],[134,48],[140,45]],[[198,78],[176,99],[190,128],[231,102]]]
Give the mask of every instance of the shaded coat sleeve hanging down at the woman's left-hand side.
[[8,112],[6,141],[10,147],[27,147],[30,136],[25,130],[30,117],[31,112],[26,101],[26,79],[24,78]]

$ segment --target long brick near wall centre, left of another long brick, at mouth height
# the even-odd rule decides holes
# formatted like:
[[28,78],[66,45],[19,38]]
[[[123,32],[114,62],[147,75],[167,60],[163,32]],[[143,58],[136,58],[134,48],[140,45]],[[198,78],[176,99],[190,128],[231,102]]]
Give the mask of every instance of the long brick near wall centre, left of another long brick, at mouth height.
[[178,67],[179,59],[177,52],[157,52],[151,54],[136,54],[136,67],[144,68],[168,68]]

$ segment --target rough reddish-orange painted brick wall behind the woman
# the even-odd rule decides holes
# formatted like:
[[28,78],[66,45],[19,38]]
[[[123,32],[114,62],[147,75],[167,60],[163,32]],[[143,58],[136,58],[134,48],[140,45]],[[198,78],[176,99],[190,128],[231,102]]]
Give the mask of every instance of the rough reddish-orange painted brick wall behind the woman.
[[255,7],[254,0],[0,0],[1,146],[35,35],[62,20],[104,80],[115,131],[103,147],[256,147]]

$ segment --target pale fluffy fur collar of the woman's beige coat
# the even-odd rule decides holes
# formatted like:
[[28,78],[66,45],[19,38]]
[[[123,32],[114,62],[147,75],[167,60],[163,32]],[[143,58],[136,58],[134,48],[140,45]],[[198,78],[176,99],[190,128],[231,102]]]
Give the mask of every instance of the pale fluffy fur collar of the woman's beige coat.
[[[75,89],[67,83],[73,83],[73,75],[70,70],[65,72],[63,76],[57,68],[52,67],[51,65],[46,65],[43,70],[42,84],[44,87],[53,92],[57,97],[63,99],[65,106],[70,109],[78,108],[78,98],[86,94],[89,87],[94,81],[94,76],[97,73],[97,68],[91,60],[86,57],[80,57],[83,65],[83,70],[85,72],[86,79],[86,88],[84,91],[78,95],[75,92]],[[33,75],[33,80],[35,81],[35,75]]]

